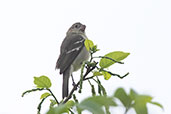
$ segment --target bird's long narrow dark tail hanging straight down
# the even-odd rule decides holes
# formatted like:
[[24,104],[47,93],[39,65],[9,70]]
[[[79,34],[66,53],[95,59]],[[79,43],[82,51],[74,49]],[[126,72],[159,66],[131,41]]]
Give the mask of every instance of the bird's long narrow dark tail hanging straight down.
[[70,77],[70,68],[68,68],[64,73],[63,73],[63,84],[62,84],[62,98],[64,99],[65,97],[68,96],[68,85],[69,85],[69,77]]

